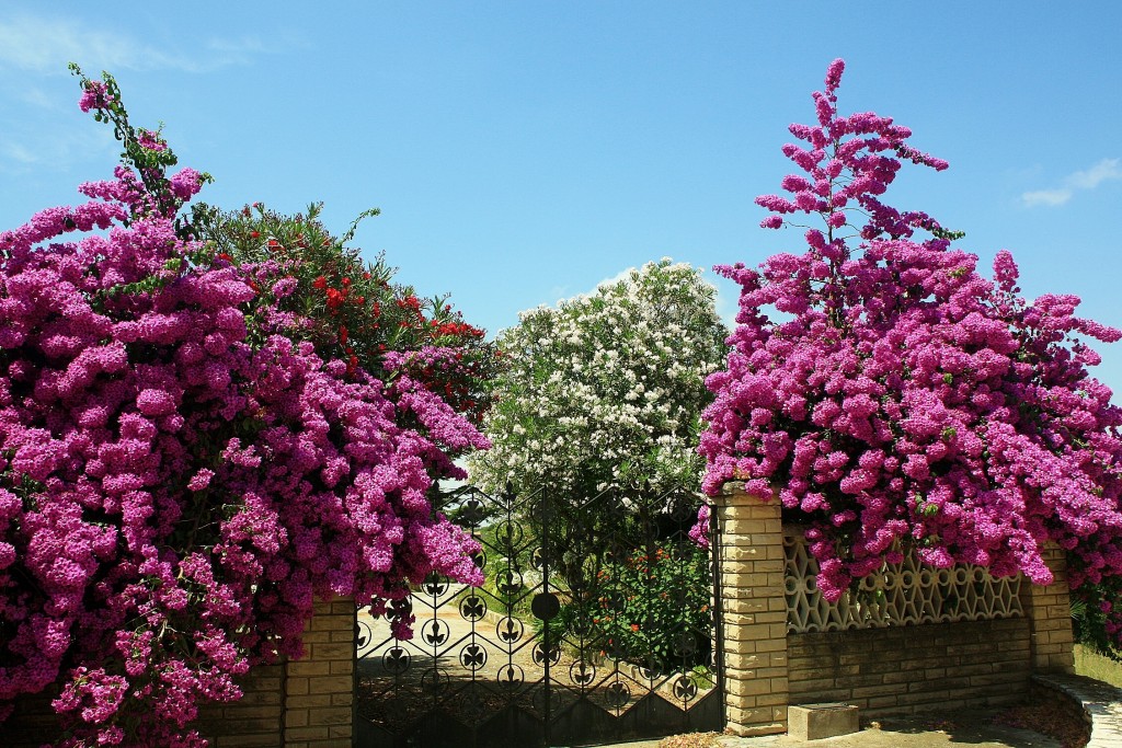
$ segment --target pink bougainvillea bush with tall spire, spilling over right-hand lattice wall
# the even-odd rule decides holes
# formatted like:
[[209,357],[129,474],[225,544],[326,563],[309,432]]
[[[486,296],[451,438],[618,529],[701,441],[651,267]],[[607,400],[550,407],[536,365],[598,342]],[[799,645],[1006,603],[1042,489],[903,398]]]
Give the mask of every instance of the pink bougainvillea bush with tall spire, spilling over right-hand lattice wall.
[[[1041,545],[1111,619],[1122,576],[1122,409],[1088,376],[1085,341],[1118,330],[1075,316],[1078,298],[1028,302],[1012,256],[993,278],[960,239],[883,202],[901,161],[946,168],[871,112],[838,113],[842,61],[792,124],[802,174],[757,203],[762,225],[809,224],[801,253],[719,268],[742,287],[735,351],[708,379],[706,490],[743,480],[808,521],[837,600],[904,547],[936,566],[983,564],[1051,581]],[[920,240],[918,231],[929,238]]]

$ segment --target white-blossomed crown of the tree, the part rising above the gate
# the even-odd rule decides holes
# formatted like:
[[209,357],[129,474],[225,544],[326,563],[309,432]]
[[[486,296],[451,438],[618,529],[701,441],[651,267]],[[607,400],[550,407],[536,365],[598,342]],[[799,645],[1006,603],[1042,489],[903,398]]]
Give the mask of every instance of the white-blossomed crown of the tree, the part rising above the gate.
[[470,473],[508,483],[596,491],[700,482],[703,379],[725,360],[716,288],[700,270],[649,262],[592,294],[521,314],[498,345],[507,367]]

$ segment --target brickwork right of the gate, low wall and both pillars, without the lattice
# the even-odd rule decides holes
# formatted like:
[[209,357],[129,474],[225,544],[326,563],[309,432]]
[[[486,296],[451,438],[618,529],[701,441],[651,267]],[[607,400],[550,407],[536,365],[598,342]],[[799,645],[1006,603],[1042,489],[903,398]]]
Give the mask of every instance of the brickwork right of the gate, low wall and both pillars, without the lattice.
[[715,501],[721,562],[725,718],[735,735],[783,732],[788,705],[856,704],[865,717],[1012,703],[1033,672],[1070,672],[1064,553],[1055,583],[1021,585],[1023,617],[788,634],[779,501],[729,484]]

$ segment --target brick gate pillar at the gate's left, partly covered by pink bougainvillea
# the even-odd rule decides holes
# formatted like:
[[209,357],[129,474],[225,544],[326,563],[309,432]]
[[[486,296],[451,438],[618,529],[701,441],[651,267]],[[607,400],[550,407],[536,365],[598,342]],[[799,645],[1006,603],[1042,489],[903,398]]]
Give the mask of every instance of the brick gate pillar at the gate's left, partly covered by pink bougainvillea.
[[285,663],[285,748],[350,748],[355,703],[355,601],[318,602],[305,655]]

